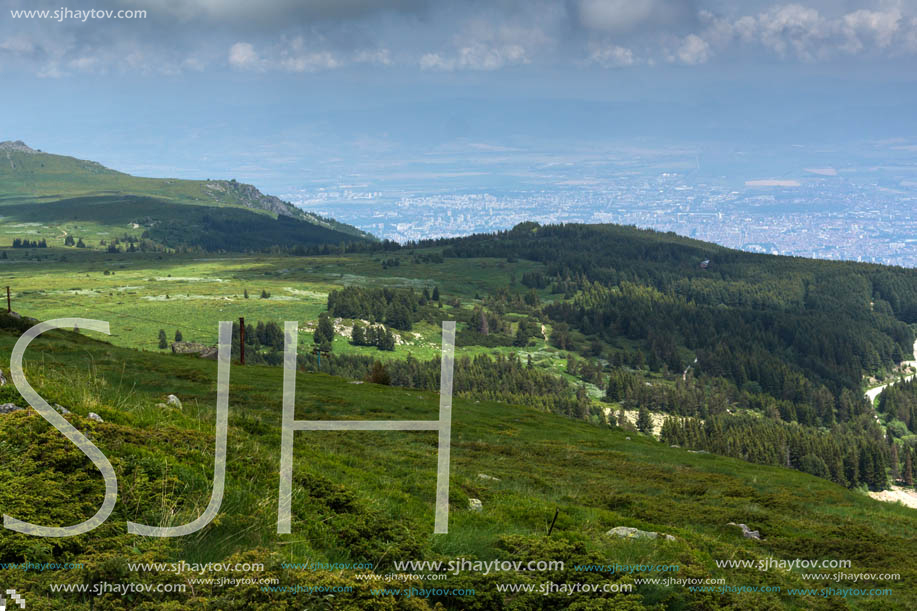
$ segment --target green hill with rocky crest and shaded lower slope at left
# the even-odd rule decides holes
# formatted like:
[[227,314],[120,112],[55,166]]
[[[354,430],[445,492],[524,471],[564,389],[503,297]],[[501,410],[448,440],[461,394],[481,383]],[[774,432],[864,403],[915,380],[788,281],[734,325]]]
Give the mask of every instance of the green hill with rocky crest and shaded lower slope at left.
[[96,247],[126,236],[148,247],[257,250],[374,239],[235,180],[136,177],[21,141],[0,142],[0,216],[8,244],[71,235]]

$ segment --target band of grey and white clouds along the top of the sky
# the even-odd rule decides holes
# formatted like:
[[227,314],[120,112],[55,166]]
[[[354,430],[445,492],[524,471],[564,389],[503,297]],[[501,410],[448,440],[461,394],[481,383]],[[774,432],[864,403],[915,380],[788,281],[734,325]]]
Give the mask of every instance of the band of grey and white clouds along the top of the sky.
[[[917,0],[91,0],[141,20],[0,20],[0,70],[424,71],[640,68],[723,57],[819,62],[917,54]],[[61,8],[59,0],[13,9]]]

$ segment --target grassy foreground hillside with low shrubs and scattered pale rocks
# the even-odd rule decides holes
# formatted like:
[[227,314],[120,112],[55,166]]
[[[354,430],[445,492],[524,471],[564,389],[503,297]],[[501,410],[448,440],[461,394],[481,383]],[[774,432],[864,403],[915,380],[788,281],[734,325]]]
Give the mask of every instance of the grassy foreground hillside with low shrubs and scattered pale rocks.
[[[20,321],[0,317],[8,354]],[[113,331],[115,325],[113,325]],[[127,520],[179,524],[210,494],[216,365],[191,357],[119,348],[87,334],[54,332],[26,358],[31,384],[87,432],[111,459],[119,503],[97,530],[37,539],[0,531],[0,562],[80,562],[81,569],[0,570],[4,588],[32,609],[890,609],[917,604],[911,510],[889,506],[799,472],[754,466],[669,448],[649,438],[531,409],[456,400],[452,427],[448,535],[432,534],[436,439],[433,433],[297,433],[293,528],[275,532],[280,443],[279,368],[233,366],[226,496],[218,518],[177,539],[126,534]],[[3,401],[24,405],[10,386]],[[157,404],[174,393],[182,407]],[[437,395],[323,374],[300,374],[299,419],[433,419]],[[87,418],[99,414],[103,423]],[[0,510],[64,525],[90,516],[101,500],[99,474],[33,411],[0,415]],[[486,479],[485,474],[498,478]],[[469,498],[483,510],[469,509]],[[550,536],[549,524],[558,510]],[[763,540],[745,539],[728,522],[746,523]],[[671,534],[674,541],[607,536],[616,526]],[[428,575],[415,588],[474,589],[475,595],[373,594],[366,569],[295,570],[283,563],[371,563],[378,575],[403,573],[402,560],[563,560],[563,570]],[[898,573],[856,587],[892,596],[797,595],[791,588],[854,587],[804,579],[800,570],[720,569],[720,560],[850,560],[847,573]],[[261,562],[263,572],[189,575],[132,572],[127,563]],[[631,575],[577,571],[587,564],[677,565],[677,573]],[[421,571],[424,574],[433,571]],[[834,572],[834,571],[829,571]],[[258,585],[193,585],[180,594],[52,593],[52,584],[189,584],[192,577],[276,578],[279,586],[341,586],[352,591],[264,591]],[[772,592],[692,592],[638,578],[724,579],[724,586]],[[627,594],[500,593],[500,584],[633,584]]]

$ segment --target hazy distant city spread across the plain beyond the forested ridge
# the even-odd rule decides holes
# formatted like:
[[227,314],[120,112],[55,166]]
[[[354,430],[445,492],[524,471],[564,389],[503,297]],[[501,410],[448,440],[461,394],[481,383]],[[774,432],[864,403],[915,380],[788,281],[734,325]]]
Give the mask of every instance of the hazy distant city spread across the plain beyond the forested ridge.
[[[285,195],[399,242],[540,223],[619,223],[751,252],[917,267],[917,182],[845,177],[698,181],[691,173],[615,176],[545,189],[409,192],[319,187]],[[576,181],[568,181],[576,182]]]

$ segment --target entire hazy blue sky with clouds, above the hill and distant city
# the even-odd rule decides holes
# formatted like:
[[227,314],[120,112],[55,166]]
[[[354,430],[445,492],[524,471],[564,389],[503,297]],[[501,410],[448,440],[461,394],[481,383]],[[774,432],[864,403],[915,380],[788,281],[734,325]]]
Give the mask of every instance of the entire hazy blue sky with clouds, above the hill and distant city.
[[917,140],[917,0],[69,1],[0,2],[0,140],[141,175]]

